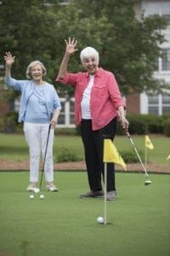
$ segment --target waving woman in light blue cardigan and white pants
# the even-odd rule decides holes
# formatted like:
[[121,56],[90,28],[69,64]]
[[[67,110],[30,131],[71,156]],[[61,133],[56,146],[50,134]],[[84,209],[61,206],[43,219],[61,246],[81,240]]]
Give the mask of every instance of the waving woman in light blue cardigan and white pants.
[[[19,122],[24,122],[24,133],[30,151],[30,184],[28,191],[34,191],[38,182],[39,162],[44,159],[48,138],[48,148],[44,173],[48,191],[58,191],[54,185],[53,143],[54,126],[58,122],[61,105],[52,84],[43,80],[46,68],[40,61],[32,61],[27,67],[27,80],[11,78],[14,56],[6,52],[5,82],[14,90],[21,91]],[[51,127],[48,137],[48,128]]]

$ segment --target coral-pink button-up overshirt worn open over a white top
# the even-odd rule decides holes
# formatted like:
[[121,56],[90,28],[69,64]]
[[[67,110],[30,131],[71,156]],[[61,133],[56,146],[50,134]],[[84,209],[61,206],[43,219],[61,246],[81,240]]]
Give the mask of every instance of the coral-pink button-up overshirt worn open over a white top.
[[[65,73],[65,78],[57,77],[62,84],[74,85],[75,90],[75,122],[79,125],[82,120],[82,94],[89,82],[88,73]],[[124,106],[122,96],[113,73],[99,67],[94,75],[94,86],[91,90],[90,111],[93,130],[99,130],[109,124],[117,116],[117,108]]]

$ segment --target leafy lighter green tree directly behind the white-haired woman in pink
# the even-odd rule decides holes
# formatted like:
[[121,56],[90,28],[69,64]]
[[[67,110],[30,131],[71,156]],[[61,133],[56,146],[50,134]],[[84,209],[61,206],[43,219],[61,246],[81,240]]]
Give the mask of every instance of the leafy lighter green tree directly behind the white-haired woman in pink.
[[[139,2],[72,0],[60,23],[69,27],[68,36],[78,39],[79,49],[91,45],[99,50],[101,66],[115,73],[124,95],[168,87],[152,77],[161,56],[159,45],[165,40],[161,30],[167,21],[159,15],[142,15],[137,20],[134,5]],[[71,60],[70,70],[75,67],[75,60]]]

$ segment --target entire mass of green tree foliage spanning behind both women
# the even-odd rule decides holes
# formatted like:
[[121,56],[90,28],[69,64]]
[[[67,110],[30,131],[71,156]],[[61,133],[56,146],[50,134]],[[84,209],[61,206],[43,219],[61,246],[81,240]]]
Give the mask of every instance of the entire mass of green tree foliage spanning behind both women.
[[[164,41],[161,29],[166,28],[166,20],[158,15],[137,20],[136,0],[72,0],[66,6],[61,2],[0,2],[0,64],[10,50],[16,56],[14,78],[25,79],[28,64],[40,60],[47,67],[46,79],[54,84],[65,52],[64,40],[76,37],[79,51],[71,57],[69,71],[82,70],[80,50],[91,45],[99,50],[101,66],[115,73],[123,95],[161,89],[152,72],[161,55],[158,45]],[[59,94],[73,94],[72,88],[59,83],[57,89]]]

